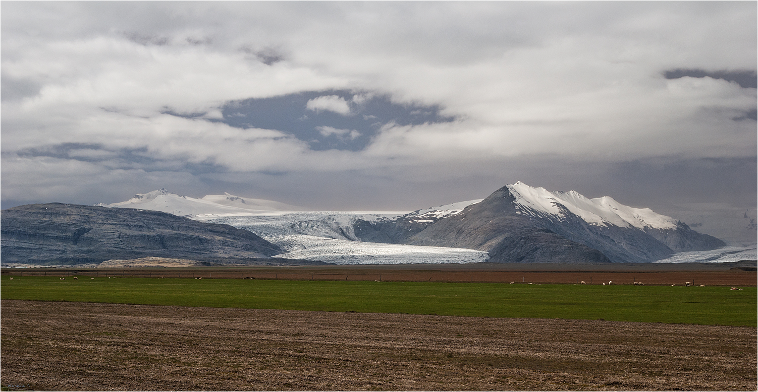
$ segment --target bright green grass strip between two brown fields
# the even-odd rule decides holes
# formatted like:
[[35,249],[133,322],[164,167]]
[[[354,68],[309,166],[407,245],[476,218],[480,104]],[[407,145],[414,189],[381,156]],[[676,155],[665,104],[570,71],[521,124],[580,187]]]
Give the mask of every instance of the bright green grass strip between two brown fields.
[[242,279],[7,278],[5,300],[756,326],[756,288]]

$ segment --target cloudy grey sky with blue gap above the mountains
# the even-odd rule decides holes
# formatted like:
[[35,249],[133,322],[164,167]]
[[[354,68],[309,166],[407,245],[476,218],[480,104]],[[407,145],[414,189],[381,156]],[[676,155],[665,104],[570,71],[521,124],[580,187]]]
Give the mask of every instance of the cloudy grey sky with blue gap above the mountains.
[[756,5],[5,1],[0,201],[417,210],[522,181],[755,242]]

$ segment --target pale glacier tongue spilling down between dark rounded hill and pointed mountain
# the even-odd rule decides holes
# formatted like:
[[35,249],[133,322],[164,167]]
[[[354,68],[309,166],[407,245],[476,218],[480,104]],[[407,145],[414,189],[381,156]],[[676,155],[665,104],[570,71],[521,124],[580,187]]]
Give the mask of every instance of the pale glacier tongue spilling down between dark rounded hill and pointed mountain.
[[246,229],[286,250],[277,257],[336,264],[482,263],[487,252],[456,247],[362,242],[352,223],[357,219],[393,219],[402,212],[294,212],[277,215],[204,219]]

